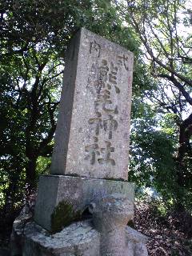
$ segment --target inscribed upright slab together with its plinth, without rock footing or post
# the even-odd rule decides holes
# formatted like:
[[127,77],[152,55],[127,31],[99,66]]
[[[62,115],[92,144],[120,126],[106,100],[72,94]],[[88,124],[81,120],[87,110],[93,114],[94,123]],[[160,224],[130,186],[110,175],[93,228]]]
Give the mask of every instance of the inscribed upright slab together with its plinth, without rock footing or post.
[[132,72],[132,53],[89,30],[70,42],[50,174],[39,178],[35,205],[46,230],[59,202],[83,211],[109,194],[134,201],[126,181]]

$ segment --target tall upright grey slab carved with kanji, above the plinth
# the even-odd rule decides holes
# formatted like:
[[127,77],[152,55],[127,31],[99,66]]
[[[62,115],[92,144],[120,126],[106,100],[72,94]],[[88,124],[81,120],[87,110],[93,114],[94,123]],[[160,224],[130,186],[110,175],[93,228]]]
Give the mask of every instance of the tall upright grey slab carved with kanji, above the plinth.
[[133,54],[82,29],[66,60],[50,172],[126,180]]

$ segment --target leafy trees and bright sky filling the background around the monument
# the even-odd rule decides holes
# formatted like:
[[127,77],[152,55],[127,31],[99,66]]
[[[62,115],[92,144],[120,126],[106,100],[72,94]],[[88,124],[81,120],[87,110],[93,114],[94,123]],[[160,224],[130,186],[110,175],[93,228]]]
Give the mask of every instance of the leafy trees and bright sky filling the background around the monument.
[[0,233],[49,170],[65,50],[84,26],[134,52],[129,181],[191,237],[191,25],[189,1],[0,2]]

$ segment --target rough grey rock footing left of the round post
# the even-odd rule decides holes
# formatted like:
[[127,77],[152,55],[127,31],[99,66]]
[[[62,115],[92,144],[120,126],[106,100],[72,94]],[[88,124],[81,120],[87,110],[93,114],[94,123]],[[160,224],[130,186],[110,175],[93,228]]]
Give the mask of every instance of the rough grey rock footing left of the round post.
[[14,222],[11,256],[99,256],[98,231],[89,221],[75,222],[57,234],[49,234],[35,222]]

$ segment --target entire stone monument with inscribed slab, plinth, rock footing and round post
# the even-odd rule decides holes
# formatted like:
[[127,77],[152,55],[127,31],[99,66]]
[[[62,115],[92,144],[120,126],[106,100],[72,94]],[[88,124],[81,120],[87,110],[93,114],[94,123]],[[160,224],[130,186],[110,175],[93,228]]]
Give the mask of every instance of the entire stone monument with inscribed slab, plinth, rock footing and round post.
[[39,178],[34,220],[26,210],[14,222],[12,256],[147,255],[146,237],[126,226],[133,61],[86,29],[70,42],[50,175]]

